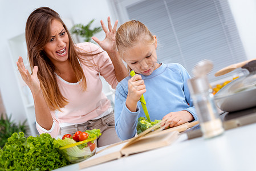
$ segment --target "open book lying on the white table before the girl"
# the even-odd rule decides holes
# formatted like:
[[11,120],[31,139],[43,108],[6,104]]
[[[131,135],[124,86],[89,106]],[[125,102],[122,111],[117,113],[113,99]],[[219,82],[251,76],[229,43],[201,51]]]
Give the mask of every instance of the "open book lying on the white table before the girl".
[[159,129],[159,125],[155,125],[132,139],[109,145],[107,148],[100,150],[95,156],[80,162],[79,168],[87,168],[103,162],[116,160],[123,156],[129,156],[130,154],[145,152],[147,150],[170,145],[178,139],[180,132],[193,127],[196,124],[198,124],[198,121],[185,123],[166,130]]

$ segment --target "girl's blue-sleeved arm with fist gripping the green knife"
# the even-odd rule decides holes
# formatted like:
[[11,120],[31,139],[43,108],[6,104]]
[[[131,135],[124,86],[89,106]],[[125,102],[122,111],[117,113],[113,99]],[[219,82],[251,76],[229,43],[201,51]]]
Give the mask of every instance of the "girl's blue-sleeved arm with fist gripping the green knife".
[[[140,75],[126,78],[116,87],[115,128],[121,140],[131,139],[136,135],[140,108],[137,105],[141,95],[146,92],[144,80]],[[122,85],[123,84],[123,85]],[[125,92],[128,89],[128,92]]]

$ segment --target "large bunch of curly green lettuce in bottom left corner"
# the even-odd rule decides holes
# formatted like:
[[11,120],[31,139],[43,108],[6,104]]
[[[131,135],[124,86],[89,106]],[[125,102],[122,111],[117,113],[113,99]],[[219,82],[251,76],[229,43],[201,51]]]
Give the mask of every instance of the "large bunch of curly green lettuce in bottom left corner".
[[70,164],[48,133],[32,137],[13,133],[0,150],[0,170],[54,170]]

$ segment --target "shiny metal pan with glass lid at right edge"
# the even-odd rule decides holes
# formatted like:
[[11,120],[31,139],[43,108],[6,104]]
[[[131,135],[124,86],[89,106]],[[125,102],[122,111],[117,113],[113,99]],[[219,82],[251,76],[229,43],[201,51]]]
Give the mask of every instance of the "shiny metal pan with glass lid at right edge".
[[226,84],[214,95],[214,101],[222,111],[233,112],[256,106],[256,60],[242,68],[249,74]]

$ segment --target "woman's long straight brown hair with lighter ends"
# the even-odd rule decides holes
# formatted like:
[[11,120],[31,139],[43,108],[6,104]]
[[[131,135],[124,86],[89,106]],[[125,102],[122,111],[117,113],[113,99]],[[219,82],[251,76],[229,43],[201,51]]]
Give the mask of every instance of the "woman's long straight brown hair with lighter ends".
[[86,91],[86,77],[84,76],[83,68],[80,66],[80,62],[85,62],[80,56],[94,56],[92,52],[84,53],[79,50],[72,41],[71,35],[68,32],[66,25],[64,25],[62,19],[58,13],[48,7],[40,7],[34,10],[26,22],[25,36],[27,43],[27,53],[29,56],[30,68],[38,66],[38,79],[40,81],[40,87],[43,92],[44,99],[48,107],[51,110],[60,110],[68,104],[68,100],[62,95],[58,87],[58,83],[55,76],[56,68],[51,60],[44,53],[43,49],[48,42],[48,38],[51,36],[50,26],[53,19],[62,23],[65,28],[68,39],[68,60],[70,60],[71,66],[75,72],[76,79],[79,81],[83,91]]

